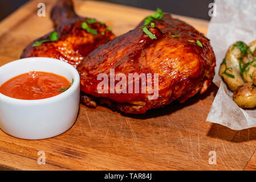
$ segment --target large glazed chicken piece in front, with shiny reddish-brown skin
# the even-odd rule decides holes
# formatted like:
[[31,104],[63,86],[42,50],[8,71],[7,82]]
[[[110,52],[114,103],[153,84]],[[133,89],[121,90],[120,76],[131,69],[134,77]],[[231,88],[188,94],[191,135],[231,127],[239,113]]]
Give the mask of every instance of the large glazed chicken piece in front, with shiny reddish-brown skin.
[[[153,20],[155,27],[149,28],[157,39],[143,32],[140,28],[143,23],[96,48],[79,64],[82,92],[97,98],[100,104],[131,114],[145,113],[174,100],[185,102],[198,92],[204,93],[212,82],[216,65],[209,40],[169,14],[161,20]],[[98,93],[97,85],[101,80],[97,80],[97,75],[106,73],[109,77],[110,69],[115,69],[115,75],[124,73],[127,77],[128,73],[158,73],[159,97],[148,100],[149,93],[141,92]],[[134,83],[127,83],[127,88],[129,84]],[[92,103],[88,97],[87,100]]]

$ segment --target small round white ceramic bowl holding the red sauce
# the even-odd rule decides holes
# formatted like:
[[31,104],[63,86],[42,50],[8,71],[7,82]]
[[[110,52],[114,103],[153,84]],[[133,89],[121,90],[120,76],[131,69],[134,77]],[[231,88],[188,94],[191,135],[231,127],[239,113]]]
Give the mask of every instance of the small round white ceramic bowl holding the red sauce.
[[0,85],[30,71],[55,73],[73,85],[57,96],[19,100],[0,93],[0,128],[13,137],[45,139],[62,134],[75,123],[79,110],[80,77],[72,65],[48,57],[30,57],[0,67]]

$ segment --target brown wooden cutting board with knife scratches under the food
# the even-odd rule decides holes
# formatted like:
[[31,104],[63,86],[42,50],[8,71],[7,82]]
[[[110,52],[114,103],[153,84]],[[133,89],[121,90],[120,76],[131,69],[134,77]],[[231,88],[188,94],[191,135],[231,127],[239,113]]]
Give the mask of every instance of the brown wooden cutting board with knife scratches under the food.
[[[37,16],[40,2],[46,4],[46,17]],[[54,3],[30,1],[0,23],[0,65],[19,59],[27,44],[52,30]],[[75,9],[81,16],[107,23],[116,35],[131,30],[152,13],[99,1],[75,1]],[[174,17],[207,32],[209,22],[205,20]],[[256,169],[256,129],[237,132],[206,122],[216,92],[212,85],[204,95],[184,104],[173,102],[139,115],[81,105],[75,125],[50,139],[22,140],[0,130],[0,169]],[[46,154],[45,165],[38,164],[39,151]],[[216,164],[209,164],[210,151],[216,152]]]

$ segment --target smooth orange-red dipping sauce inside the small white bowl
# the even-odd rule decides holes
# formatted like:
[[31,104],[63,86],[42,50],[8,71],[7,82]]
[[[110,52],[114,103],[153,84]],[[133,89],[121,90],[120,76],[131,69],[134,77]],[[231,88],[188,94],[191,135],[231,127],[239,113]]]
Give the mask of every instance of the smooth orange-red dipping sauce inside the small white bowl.
[[63,93],[70,86],[67,78],[54,73],[29,72],[11,78],[0,86],[0,93],[22,100],[39,100]]

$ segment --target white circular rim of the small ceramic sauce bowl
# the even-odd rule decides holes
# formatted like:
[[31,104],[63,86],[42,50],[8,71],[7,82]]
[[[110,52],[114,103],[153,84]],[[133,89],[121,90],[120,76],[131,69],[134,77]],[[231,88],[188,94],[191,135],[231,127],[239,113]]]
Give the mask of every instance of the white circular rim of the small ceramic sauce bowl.
[[[49,97],[49,98],[43,98],[43,99],[40,99],[40,100],[21,100],[21,99],[18,99],[18,98],[12,98],[12,97],[9,97],[9,96],[5,96],[4,94],[0,93],[0,100],[6,101],[6,102],[9,102],[9,103],[13,103],[13,104],[18,104],[18,105],[47,104],[47,103],[50,103],[50,102],[54,102],[56,100],[61,100],[61,99],[64,99],[66,97],[69,97],[72,93],[74,93],[76,88],[78,88],[80,86],[79,73],[71,64],[68,64],[68,63],[66,63],[64,61],[61,61],[61,60],[58,60],[58,59],[53,59],[53,58],[50,58],[50,57],[28,57],[28,58],[23,58],[23,59],[11,61],[10,63],[7,63],[5,65],[2,65],[2,67],[0,67],[0,72],[1,72],[1,69],[6,69],[8,67],[12,67],[12,66],[14,66],[15,64],[18,64],[18,63],[22,64],[21,63],[22,61],[27,62],[27,61],[36,61],[36,60],[42,60],[42,59],[55,61],[55,64],[59,64],[60,67],[65,67],[71,72],[72,76],[74,77],[74,82],[70,86],[69,89],[67,89],[65,92],[60,93],[56,96]],[[56,61],[58,61],[58,62],[56,62]],[[63,76],[63,75],[60,75],[60,76]]]

